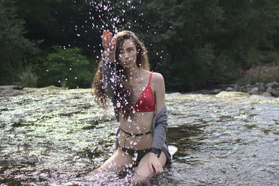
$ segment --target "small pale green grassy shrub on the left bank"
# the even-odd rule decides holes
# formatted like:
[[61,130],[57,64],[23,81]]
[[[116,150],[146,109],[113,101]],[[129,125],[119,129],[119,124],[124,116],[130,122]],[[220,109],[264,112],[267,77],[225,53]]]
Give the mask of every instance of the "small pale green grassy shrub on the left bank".
[[27,68],[25,72],[20,75],[20,85],[24,87],[36,87],[38,82],[38,76],[34,74],[31,68]]

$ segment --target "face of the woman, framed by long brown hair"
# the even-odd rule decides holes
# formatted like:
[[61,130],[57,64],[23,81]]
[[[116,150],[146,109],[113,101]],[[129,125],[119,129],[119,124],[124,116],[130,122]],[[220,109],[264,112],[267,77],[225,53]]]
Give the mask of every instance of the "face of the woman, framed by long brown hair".
[[136,65],[137,61],[137,48],[133,39],[123,40],[123,45],[119,50],[119,61],[123,67],[131,67]]

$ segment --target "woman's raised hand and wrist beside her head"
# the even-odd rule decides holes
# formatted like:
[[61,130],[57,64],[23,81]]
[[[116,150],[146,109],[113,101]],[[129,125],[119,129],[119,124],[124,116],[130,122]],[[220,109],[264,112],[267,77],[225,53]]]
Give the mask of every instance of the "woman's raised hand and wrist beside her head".
[[100,36],[102,38],[102,45],[104,47],[103,58],[109,62],[115,61],[115,51],[116,51],[116,36],[112,37],[112,33],[107,30],[103,31],[103,35]]

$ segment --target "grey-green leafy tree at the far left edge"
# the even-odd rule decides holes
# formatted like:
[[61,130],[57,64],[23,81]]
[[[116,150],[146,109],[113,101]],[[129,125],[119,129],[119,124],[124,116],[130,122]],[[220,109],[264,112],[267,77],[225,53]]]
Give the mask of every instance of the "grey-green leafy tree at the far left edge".
[[13,1],[0,0],[0,84],[17,80],[36,43],[24,38],[24,21],[17,18]]

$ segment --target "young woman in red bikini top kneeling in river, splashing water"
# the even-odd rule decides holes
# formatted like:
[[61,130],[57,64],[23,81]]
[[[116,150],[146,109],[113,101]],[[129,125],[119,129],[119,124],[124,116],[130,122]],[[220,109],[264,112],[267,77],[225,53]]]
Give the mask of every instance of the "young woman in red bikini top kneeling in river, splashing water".
[[163,76],[149,71],[142,42],[131,31],[112,37],[103,31],[103,60],[93,80],[93,95],[105,107],[112,100],[119,130],[116,153],[98,171],[120,172],[137,166],[135,182],[163,172],[170,159],[165,135],[167,107]]

